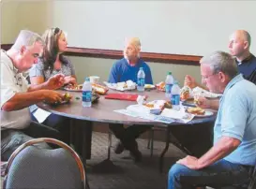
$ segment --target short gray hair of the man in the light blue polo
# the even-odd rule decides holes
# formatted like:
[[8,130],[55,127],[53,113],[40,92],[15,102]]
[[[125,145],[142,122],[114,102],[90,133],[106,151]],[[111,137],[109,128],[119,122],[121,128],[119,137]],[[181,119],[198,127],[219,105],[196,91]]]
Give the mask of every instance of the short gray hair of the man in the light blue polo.
[[223,72],[232,80],[238,74],[233,56],[224,51],[215,51],[200,60],[200,64],[210,65],[213,74]]

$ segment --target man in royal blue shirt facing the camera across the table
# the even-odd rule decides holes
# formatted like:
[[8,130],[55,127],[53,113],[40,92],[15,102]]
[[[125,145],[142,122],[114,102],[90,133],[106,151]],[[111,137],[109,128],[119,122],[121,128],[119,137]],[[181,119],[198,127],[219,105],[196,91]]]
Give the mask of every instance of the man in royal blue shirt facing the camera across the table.
[[[137,37],[128,39],[124,50],[124,58],[114,63],[110,73],[109,82],[116,83],[127,80],[137,82],[137,74],[140,67],[143,67],[145,83],[153,84],[150,68],[140,58],[140,51],[140,39]],[[127,149],[135,161],[141,161],[142,153],[138,150],[136,138],[149,128],[148,125],[132,125],[125,128],[122,124],[111,124],[110,129],[113,131],[114,136],[119,138],[114,152],[122,153]]]

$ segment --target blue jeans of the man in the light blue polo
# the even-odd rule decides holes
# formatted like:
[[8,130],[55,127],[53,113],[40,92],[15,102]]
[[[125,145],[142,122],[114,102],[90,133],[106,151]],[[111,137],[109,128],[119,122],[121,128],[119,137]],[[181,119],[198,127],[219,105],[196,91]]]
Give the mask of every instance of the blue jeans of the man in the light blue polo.
[[[200,170],[174,164],[169,170],[168,189],[192,189],[195,186],[219,188],[220,186],[248,185],[249,168],[230,163],[224,159]],[[242,189],[243,187],[240,186],[239,188]]]

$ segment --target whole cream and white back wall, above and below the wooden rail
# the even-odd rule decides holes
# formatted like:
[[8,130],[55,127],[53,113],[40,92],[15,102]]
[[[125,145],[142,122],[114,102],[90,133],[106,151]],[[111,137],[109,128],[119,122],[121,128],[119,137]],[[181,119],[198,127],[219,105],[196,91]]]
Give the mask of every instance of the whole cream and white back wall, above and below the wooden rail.
[[[3,2],[3,1],[2,1]],[[42,34],[58,26],[68,32],[69,46],[123,49],[125,36],[142,38],[143,51],[204,54],[227,51],[228,36],[244,28],[255,52],[254,1],[40,1],[1,2],[1,43],[12,43],[21,29]],[[69,57],[80,82],[98,75],[107,80],[115,60]],[[155,82],[173,71],[182,84],[186,74],[200,80],[194,65],[148,63]]]

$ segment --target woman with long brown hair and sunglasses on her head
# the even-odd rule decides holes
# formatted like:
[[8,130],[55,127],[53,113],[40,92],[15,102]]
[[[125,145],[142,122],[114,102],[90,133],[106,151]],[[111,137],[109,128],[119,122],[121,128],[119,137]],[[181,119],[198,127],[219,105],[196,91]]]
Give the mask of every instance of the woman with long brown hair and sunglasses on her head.
[[[45,48],[41,57],[38,58],[38,64],[34,65],[29,70],[30,82],[32,85],[40,84],[49,80],[51,77],[57,74],[64,75],[64,85],[72,84],[76,85],[75,70],[73,65],[68,61],[68,58],[63,55],[63,52],[67,51],[67,37],[65,33],[59,28],[52,28],[45,31],[42,38],[45,41]],[[38,122],[35,117],[38,107],[30,107],[32,119]],[[52,126],[60,131],[62,140],[69,142],[69,133],[67,118],[58,116],[55,114],[48,115],[47,113],[40,111],[40,116],[45,116],[46,119],[40,124]]]

